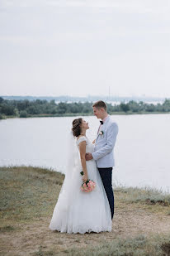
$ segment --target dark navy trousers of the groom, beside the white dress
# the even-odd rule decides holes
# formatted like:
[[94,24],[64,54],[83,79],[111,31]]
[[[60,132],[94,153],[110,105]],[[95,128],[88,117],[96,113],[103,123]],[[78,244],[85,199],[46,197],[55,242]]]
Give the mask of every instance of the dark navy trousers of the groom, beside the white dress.
[[106,191],[106,196],[109,200],[111,208],[111,220],[114,215],[114,194],[112,189],[112,167],[111,168],[98,168],[98,171],[102,178],[102,183]]

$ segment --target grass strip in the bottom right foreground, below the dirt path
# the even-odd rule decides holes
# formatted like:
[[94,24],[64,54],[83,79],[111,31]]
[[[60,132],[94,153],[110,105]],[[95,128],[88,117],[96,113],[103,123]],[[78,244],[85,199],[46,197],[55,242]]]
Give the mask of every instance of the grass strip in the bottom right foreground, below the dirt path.
[[66,251],[72,256],[166,256],[170,255],[170,237],[157,236],[154,239],[147,239],[144,235],[134,239],[114,239],[110,242],[91,247],[89,249],[71,249]]

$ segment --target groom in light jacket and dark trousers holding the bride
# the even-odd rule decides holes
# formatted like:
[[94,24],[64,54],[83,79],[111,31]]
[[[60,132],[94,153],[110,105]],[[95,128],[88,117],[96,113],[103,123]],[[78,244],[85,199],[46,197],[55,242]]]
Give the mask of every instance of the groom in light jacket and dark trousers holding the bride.
[[111,207],[111,220],[114,215],[114,195],[112,189],[112,167],[115,166],[113,149],[116,143],[118,126],[114,123],[107,114],[106,104],[102,100],[97,101],[92,105],[93,113],[97,118],[102,118],[102,121],[97,132],[94,152],[86,154],[86,160],[97,162],[97,168],[100,172],[103,186],[106,191],[106,196]]

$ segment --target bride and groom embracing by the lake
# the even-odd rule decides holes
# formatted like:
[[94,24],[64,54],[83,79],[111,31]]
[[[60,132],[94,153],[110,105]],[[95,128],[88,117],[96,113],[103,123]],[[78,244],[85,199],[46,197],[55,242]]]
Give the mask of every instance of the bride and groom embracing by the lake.
[[[74,153],[68,161],[64,184],[50,221],[52,230],[69,234],[111,231],[114,215],[111,177],[118,127],[107,114],[105,102],[97,101],[92,109],[94,115],[102,119],[93,142],[86,137],[88,123],[83,118],[73,120],[72,133],[76,138],[73,143],[80,157]],[[85,193],[80,187],[88,180],[94,181],[96,186]]]

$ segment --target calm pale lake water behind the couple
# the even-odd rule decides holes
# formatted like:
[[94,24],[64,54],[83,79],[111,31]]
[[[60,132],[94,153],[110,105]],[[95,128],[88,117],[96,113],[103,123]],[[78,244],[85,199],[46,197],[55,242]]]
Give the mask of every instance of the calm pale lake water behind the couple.
[[[113,183],[170,191],[170,114],[112,115],[119,126]],[[84,117],[96,138],[99,120]],[[0,120],[0,166],[31,165],[65,171],[73,117]]]

